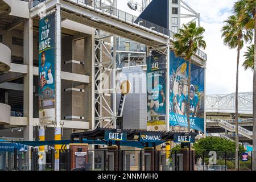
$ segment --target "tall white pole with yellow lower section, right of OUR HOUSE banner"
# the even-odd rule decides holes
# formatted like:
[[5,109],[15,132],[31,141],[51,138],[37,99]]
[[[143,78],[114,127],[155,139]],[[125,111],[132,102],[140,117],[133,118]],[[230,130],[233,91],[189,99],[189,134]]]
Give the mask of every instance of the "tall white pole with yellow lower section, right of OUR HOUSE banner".
[[[61,128],[60,128],[60,94],[61,94],[61,12],[60,2],[56,3],[56,29],[55,29],[55,140],[61,140]],[[59,152],[60,145],[55,145],[55,171],[59,171]]]

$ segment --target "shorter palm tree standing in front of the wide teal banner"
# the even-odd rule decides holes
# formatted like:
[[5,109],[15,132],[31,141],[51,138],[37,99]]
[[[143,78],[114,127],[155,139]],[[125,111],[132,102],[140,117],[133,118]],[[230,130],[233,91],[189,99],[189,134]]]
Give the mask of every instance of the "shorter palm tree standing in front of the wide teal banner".
[[[197,49],[205,49],[206,43],[204,41],[205,30],[203,27],[196,27],[196,22],[191,22],[188,24],[183,24],[183,27],[179,29],[179,33],[174,35],[176,39],[174,42],[174,52],[177,57],[183,56],[186,61],[188,61],[188,94],[190,93],[190,80],[191,80],[191,57],[195,55]],[[188,121],[188,132],[190,132],[190,122],[189,122],[189,102],[190,98],[186,104],[187,110],[187,121]]]

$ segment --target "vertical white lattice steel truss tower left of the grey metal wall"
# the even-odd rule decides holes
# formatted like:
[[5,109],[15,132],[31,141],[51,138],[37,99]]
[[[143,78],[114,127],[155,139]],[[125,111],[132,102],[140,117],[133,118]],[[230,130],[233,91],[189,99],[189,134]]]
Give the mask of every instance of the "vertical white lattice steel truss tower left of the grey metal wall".
[[[97,127],[115,128],[116,109],[115,109],[115,39],[113,38],[112,47],[109,48],[108,42],[113,35],[96,30],[95,35],[95,91],[94,91],[94,111],[95,125]],[[114,36],[115,37],[115,36]],[[113,102],[111,100],[113,99]],[[112,105],[110,103],[113,103]]]

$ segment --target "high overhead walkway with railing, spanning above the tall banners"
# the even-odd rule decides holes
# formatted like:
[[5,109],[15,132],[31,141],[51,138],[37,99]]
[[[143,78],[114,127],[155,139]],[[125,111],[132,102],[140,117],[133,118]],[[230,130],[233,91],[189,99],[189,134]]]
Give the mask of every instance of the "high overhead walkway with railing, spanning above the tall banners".
[[[38,15],[42,7],[47,11],[52,10],[57,0],[48,0],[43,3],[36,2],[31,9],[32,17]],[[172,32],[167,28],[137,18],[104,3],[99,3],[99,1],[95,2],[62,0],[60,1],[61,16],[65,19],[146,44],[151,48],[166,46],[168,40],[170,40],[171,44],[174,41]],[[193,55],[192,60],[194,64],[203,66],[205,65],[205,60],[207,60],[207,55],[198,50],[196,55]]]

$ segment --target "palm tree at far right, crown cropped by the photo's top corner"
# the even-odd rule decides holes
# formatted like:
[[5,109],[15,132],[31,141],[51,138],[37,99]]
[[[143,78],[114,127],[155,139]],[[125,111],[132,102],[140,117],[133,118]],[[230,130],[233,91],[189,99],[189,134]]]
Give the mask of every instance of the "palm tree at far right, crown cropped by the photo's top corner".
[[[254,45],[256,44],[256,0],[240,0],[234,5],[234,12],[240,15],[240,22],[247,29],[254,29]],[[256,47],[254,46],[254,52]],[[253,67],[253,170],[256,171],[256,55]]]

